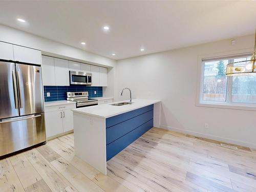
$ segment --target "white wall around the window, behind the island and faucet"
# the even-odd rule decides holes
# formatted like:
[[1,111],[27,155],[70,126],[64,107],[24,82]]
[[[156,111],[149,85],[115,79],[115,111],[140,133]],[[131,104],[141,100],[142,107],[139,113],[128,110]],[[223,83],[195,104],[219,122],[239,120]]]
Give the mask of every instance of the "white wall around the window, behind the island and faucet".
[[[256,148],[256,111],[196,106],[198,57],[253,48],[253,36],[236,38],[118,60],[115,68],[116,100],[129,98],[120,92],[132,89],[133,98],[161,99],[161,127],[206,138]],[[209,129],[204,124],[209,123]]]

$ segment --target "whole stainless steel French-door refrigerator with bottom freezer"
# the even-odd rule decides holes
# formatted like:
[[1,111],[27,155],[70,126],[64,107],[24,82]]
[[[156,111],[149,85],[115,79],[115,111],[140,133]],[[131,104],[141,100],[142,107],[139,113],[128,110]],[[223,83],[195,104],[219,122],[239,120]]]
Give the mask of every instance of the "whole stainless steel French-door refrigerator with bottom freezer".
[[0,61],[0,156],[44,142],[41,67]]

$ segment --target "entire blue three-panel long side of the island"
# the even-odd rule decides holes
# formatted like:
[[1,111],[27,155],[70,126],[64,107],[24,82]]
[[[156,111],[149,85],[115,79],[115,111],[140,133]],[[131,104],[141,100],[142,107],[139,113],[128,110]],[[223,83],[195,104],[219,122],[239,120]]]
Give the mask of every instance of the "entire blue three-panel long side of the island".
[[106,119],[106,160],[153,127],[154,104]]

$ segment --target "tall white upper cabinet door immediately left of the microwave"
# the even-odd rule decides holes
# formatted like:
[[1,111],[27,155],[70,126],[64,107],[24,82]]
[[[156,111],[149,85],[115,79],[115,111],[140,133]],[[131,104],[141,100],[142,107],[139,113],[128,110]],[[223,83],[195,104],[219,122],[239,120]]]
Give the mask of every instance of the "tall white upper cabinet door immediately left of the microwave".
[[54,58],[55,85],[69,86],[69,61]]

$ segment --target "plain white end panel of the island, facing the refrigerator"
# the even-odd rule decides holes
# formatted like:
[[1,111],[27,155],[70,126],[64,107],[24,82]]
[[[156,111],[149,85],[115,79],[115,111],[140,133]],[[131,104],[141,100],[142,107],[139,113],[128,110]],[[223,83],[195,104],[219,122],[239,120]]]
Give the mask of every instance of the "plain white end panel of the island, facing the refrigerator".
[[106,175],[105,119],[74,112],[75,155]]

